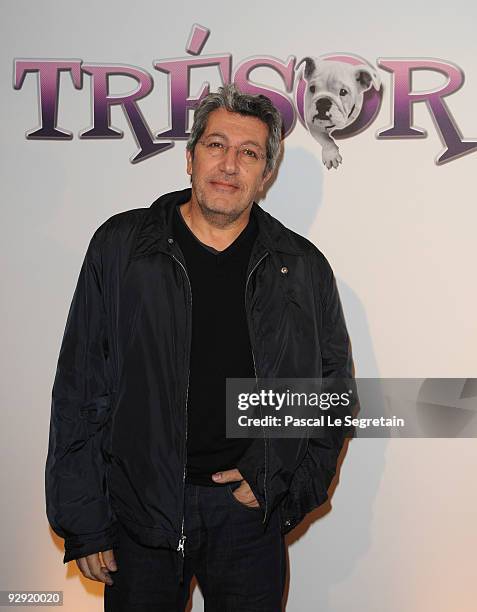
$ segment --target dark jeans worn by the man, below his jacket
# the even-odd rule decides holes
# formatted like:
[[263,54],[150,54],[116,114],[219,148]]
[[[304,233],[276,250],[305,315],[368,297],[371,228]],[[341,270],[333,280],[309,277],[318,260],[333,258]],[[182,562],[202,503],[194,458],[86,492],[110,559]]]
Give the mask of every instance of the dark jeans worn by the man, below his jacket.
[[134,542],[119,528],[118,570],[105,585],[106,612],[183,612],[195,574],[206,612],[281,612],[286,553],[277,512],[266,532],[262,510],[241,504],[222,487],[186,485],[184,581],[177,553]]

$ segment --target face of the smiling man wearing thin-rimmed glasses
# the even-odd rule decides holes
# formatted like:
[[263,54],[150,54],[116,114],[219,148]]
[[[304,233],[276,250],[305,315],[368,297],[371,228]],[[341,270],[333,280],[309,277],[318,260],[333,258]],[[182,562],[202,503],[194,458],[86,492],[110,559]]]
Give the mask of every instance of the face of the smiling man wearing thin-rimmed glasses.
[[218,108],[208,116],[200,140],[234,146],[219,157],[210,155],[210,150],[200,142],[195,147],[194,159],[186,151],[192,199],[214,225],[225,226],[240,217],[270,178],[271,172],[263,175],[265,159],[246,163],[236,148],[250,145],[265,155],[267,137],[268,126],[260,119]]

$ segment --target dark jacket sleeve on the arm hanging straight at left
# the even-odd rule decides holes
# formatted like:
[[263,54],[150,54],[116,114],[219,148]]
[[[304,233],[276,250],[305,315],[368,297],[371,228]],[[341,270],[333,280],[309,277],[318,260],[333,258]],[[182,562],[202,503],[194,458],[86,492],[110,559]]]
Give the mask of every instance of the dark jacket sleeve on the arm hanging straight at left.
[[116,542],[104,454],[111,388],[98,231],[68,312],[51,398],[46,513],[65,540],[63,563]]

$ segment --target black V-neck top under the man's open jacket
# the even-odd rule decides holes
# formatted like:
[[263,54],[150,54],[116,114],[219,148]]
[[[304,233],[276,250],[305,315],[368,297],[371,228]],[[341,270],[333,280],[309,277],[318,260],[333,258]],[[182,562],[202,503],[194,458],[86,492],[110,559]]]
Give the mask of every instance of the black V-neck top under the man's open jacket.
[[174,234],[192,286],[192,346],[187,400],[186,481],[222,486],[213,473],[237,467],[249,439],[226,438],[226,378],[255,376],[245,316],[245,282],[257,236],[247,226],[223,251],[203,244],[189,229],[179,207]]

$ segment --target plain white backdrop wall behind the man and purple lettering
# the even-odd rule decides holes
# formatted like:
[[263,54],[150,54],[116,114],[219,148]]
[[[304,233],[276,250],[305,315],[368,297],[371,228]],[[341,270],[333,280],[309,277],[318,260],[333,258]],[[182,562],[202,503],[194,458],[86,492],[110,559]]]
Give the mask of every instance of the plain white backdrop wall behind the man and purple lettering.
[[[447,103],[463,137],[477,138],[477,9],[403,0],[396,5],[204,0],[2,3],[2,552],[0,589],[64,591],[68,612],[102,609],[102,587],[62,564],[62,541],[45,516],[50,397],[66,315],[89,238],[112,214],[149,206],[188,184],[185,142],[140,163],[123,111],[120,140],[81,140],[91,125],[90,81],[60,80],[58,124],[72,140],[32,141],[39,124],[37,76],[13,87],[14,59],[127,64],[152,75],[140,107],[151,130],[169,121],[158,59],[185,57],[191,27],[210,29],[204,54],[248,57],[354,53],[439,58],[465,74]],[[190,94],[221,82],[192,71]],[[477,153],[444,165],[435,123],[414,108],[423,139],[376,138],[390,125],[392,79],[364,132],[341,141],[343,164],[327,171],[319,145],[297,122],[263,207],[310,238],[338,278],[360,377],[475,377],[475,175]],[[253,80],[290,96],[258,68]],[[416,88],[441,84],[416,75]],[[115,77],[113,93],[131,90]],[[353,440],[330,507],[289,537],[289,612],[471,612],[477,597],[473,439]],[[193,610],[202,610],[198,588]]]

